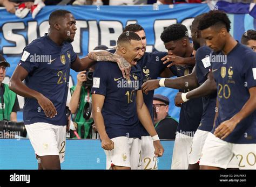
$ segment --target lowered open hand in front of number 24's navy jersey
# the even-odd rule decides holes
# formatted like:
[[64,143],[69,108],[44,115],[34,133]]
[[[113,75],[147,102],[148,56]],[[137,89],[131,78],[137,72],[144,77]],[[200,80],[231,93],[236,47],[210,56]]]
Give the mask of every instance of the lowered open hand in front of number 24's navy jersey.
[[44,95],[41,94],[37,98],[37,102],[44,110],[46,117],[54,118],[57,115],[55,106],[52,104],[51,100],[45,97]]

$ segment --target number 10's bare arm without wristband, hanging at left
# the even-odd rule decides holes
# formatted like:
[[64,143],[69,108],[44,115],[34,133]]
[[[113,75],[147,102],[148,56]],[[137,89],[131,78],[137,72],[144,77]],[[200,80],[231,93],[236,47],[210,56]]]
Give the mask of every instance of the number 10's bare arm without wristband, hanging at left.
[[114,148],[114,142],[110,140],[106,133],[104,119],[102,116],[102,107],[104,104],[105,96],[99,94],[92,94],[92,117],[95,121],[96,128],[98,130],[100,139],[102,140],[102,148],[105,150],[111,150]]

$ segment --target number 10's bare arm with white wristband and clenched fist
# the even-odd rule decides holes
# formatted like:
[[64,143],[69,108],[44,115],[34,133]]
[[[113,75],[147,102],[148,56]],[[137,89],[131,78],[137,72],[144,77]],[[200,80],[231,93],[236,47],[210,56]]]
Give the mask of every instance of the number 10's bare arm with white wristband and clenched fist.
[[142,123],[142,125],[145,127],[146,131],[153,138],[153,145],[155,148],[154,154],[156,154],[156,156],[163,156],[164,148],[161,145],[159,138],[154,140],[155,137],[158,137],[158,136],[157,136],[156,130],[154,129],[154,125],[152,123],[149,110],[147,109],[147,106],[144,103],[142,90],[138,90],[136,94],[137,94],[136,95],[136,106],[137,106],[138,118],[139,118],[140,122]]

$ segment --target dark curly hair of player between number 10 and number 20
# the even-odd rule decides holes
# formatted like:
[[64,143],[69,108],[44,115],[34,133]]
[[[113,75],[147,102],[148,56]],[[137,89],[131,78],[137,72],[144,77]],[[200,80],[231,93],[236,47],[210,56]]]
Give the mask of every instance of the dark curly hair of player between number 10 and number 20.
[[183,24],[170,25],[169,27],[165,28],[160,36],[161,40],[165,43],[179,40],[184,37],[188,38],[188,31],[187,27]]

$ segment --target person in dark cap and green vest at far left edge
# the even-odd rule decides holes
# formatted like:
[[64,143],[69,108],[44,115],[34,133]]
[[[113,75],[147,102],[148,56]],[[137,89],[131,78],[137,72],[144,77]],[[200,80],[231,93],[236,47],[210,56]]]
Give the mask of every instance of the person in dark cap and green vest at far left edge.
[[17,95],[9,89],[8,84],[3,83],[7,67],[10,64],[0,55],[0,120],[17,121],[17,111],[20,110]]

